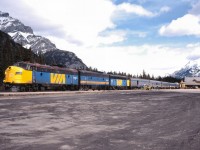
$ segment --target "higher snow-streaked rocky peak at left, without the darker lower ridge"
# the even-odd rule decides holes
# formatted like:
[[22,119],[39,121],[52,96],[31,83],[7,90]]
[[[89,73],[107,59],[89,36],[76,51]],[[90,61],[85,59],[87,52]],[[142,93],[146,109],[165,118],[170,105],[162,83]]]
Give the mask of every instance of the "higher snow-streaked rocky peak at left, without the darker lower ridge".
[[0,30],[8,33],[12,39],[25,48],[30,48],[34,53],[46,53],[56,50],[56,46],[50,40],[42,36],[34,35],[29,26],[25,26],[18,19],[0,11]]

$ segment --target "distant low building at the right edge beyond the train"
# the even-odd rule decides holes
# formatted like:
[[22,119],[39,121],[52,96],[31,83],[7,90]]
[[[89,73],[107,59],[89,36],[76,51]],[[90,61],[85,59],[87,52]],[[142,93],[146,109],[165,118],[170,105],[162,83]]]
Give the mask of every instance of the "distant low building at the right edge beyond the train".
[[184,85],[186,88],[200,88],[200,77],[185,77]]

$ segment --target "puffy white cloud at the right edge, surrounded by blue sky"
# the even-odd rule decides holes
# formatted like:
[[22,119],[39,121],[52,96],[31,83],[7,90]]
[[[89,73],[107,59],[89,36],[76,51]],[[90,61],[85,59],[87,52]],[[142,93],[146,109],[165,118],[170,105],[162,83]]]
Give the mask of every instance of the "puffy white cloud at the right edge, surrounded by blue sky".
[[159,34],[162,36],[199,36],[200,16],[186,14],[181,18],[173,20],[170,24],[162,26]]

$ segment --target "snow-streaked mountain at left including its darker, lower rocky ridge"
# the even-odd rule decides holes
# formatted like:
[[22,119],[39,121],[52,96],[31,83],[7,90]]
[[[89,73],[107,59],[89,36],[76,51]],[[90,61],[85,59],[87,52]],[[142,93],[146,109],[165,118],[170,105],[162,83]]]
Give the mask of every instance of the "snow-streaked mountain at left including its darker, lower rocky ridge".
[[[16,43],[25,48],[31,48],[35,54],[44,54],[47,63],[52,63],[48,60],[53,59],[54,64],[62,62],[62,65],[70,68],[87,67],[74,53],[57,49],[49,39],[35,35],[31,27],[24,25],[18,19],[12,18],[9,13],[0,11],[0,30],[9,34]],[[47,52],[48,54],[46,54]]]

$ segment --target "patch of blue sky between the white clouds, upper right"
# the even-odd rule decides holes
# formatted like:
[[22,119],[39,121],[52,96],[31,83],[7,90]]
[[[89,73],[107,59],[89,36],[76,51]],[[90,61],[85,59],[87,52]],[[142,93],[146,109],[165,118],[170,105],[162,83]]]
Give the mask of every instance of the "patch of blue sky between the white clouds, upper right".
[[[136,38],[137,34],[128,34],[128,38],[121,44],[124,45],[141,45],[141,44],[183,44],[188,41],[198,41],[199,38],[195,36],[160,36],[159,29],[169,24],[172,20],[176,20],[188,13],[192,9],[191,1],[155,1],[155,0],[134,0],[122,1],[116,0],[115,4],[137,4],[146,10],[156,14],[157,16],[139,16],[137,14],[124,14],[122,18],[116,18],[114,23],[117,24],[119,30],[135,31],[146,34],[145,37]],[[160,12],[161,8],[168,8],[166,12]]]

